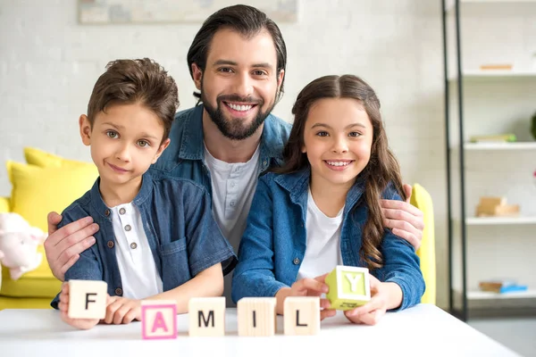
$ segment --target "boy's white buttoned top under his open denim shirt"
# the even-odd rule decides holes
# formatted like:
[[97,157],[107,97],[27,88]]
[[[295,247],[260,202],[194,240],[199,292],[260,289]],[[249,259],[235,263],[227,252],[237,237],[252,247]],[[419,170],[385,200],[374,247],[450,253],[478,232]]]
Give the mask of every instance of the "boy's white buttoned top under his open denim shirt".
[[121,274],[123,297],[144,299],[163,292],[141,214],[132,203],[111,208],[115,256]]

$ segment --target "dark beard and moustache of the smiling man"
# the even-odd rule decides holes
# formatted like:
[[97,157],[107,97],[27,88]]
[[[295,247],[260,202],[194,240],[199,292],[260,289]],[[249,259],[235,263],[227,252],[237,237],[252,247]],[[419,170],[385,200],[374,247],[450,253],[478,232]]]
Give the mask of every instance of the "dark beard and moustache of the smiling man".
[[[274,99],[272,105],[265,112],[262,112],[262,107],[264,105],[263,99],[253,99],[250,97],[242,98],[239,95],[219,95],[216,98],[217,107],[214,108],[205,97],[203,88],[201,88],[201,101],[205,106],[205,111],[208,113],[208,116],[213,120],[218,129],[220,129],[223,136],[228,137],[231,140],[244,140],[247,137],[251,137],[264,123],[264,120],[270,115],[270,112],[272,112],[273,106],[275,105]],[[256,105],[258,107],[257,114],[250,124],[245,124],[242,118],[231,118],[230,120],[226,120],[222,112],[222,105],[225,105],[223,102],[238,102],[240,104]]]

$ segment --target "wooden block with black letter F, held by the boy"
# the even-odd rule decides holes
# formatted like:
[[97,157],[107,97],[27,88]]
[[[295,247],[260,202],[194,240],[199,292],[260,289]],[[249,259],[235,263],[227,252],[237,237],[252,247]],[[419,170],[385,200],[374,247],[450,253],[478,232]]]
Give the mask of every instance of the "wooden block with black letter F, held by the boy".
[[69,280],[71,319],[104,319],[108,284],[100,280]]

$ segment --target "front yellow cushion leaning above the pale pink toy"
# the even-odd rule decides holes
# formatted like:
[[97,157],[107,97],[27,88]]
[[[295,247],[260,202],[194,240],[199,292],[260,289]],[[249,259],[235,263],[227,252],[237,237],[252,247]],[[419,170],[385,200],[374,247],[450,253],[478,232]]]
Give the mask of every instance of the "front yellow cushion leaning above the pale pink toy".
[[38,167],[7,162],[12,183],[11,212],[19,213],[31,226],[48,230],[48,212],[62,212],[93,186],[95,165],[77,167]]

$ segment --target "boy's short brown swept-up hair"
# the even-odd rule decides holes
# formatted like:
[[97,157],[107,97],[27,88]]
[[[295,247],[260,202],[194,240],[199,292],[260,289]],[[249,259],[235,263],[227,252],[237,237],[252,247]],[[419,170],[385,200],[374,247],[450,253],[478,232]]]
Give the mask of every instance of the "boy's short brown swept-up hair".
[[112,105],[140,103],[162,120],[163,142],[169,137],[179,107],[178,92],[175,80],[153,60],[108,62],[89,98],[88,120],[93,126],[96,114]]

